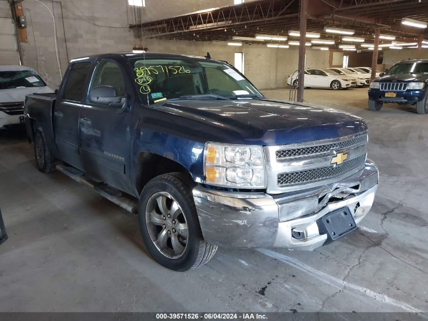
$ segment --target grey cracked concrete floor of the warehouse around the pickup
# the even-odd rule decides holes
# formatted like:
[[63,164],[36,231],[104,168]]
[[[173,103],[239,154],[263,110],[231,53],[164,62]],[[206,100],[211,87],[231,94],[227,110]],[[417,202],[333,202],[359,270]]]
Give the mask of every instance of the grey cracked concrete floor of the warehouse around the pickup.
[[220,248],[186,273],[151,259],[136,217],[38,172],[25,137],[0,134],[0,311],[428,311],[428,116],[367,111],[366,91],[305,90],[369,125],[380,187],[360,229],[314,252]]

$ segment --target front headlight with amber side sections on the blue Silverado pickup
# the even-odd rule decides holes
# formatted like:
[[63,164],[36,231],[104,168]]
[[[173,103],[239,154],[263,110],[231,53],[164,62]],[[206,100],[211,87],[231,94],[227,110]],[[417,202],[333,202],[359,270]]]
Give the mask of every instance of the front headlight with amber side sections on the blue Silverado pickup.
[[266,188],[263,148],[207,142],[204,174],[209,185]]

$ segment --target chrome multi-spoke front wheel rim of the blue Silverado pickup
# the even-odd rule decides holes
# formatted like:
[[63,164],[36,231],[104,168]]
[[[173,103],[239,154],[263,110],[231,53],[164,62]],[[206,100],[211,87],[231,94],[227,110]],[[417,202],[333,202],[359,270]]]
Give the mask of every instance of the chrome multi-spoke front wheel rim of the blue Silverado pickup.
[[150,196],[146,225],[154,246],[165,257],[178,259],[187,247],[187,222],[178,202],[167,192]]

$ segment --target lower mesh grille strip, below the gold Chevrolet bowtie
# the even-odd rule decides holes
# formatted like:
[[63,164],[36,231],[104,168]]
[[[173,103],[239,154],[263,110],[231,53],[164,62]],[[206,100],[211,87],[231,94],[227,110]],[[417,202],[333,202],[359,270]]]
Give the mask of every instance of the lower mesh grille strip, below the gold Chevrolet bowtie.
[[305,184],[316,182],[320,180],[326,180],[330,177],[338,176],[340,174],[350,172],[359,167],[363,167],[366,161],[366,154],[356,157],[354,159],[345,161],[341,165],[328,166],[310,170],[304,170],[293,173],[279,174],[278,175],[278,186],[290,186],[296,184]]

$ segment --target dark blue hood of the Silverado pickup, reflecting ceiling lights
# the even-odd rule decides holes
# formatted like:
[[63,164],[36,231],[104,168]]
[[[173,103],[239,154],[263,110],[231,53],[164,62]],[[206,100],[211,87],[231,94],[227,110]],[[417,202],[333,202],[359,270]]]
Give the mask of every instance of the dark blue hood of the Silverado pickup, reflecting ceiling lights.
[[154,108],[235,131],[249,145],[292,144],[367,130],[361,118],[343,111],[269,99],[183,99]]

